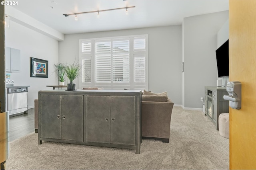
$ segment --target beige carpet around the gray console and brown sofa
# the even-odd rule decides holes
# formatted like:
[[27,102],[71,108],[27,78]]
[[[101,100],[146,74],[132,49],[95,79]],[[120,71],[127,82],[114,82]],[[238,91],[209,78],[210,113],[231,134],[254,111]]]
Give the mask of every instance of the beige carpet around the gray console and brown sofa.
[[7,169],[228,169],[229,140],[202,111],[174,107],[170,143],[143,139],[135,150],[43,141],[32,133],[10,143]]

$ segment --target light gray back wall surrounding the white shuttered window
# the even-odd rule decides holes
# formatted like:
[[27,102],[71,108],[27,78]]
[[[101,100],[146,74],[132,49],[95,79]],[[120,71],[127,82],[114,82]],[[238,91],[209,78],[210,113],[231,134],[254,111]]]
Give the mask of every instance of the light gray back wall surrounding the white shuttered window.
[[[79,59],[79,39],[148,34],[148,90],[168,91],[181,104],[181,25],[64,35],[59,42],[59,62]],[[79,84],[79,79],[74,81]]]

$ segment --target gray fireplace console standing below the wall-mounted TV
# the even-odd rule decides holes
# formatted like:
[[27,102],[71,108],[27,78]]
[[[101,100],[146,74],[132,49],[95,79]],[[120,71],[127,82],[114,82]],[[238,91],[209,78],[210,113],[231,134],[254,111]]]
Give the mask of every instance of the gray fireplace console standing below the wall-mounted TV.
[[205,115],[207,115],[216,130],[219,130],[219,115],[221,113],[229,113],[228,101],[223,99],[224,95],[228,95],[226,87],[205,87]]

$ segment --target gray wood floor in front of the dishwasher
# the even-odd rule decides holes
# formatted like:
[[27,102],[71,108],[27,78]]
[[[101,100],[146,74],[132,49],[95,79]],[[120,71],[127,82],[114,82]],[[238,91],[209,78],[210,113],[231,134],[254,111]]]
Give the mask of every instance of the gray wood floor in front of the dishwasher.
[[28,109],[28,113],[10,117],[9,128],[10,142],[35,132],[34,108]]

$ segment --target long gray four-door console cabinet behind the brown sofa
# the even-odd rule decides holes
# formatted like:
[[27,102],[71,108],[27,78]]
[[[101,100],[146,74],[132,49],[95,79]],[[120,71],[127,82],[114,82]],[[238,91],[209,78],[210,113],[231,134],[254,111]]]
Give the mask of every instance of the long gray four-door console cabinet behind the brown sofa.
[[141,91],[45,90],[38,92],[38,100],[38,144],[54,141],[140,153]]

